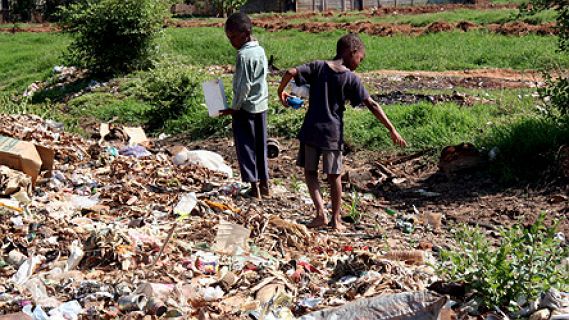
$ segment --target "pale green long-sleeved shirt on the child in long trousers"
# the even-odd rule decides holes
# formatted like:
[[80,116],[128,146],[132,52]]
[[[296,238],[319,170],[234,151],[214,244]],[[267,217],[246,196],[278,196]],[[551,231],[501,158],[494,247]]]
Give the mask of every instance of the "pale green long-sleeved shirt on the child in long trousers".
[[268,71],[265,50],[257,41],[247,42],[239,49],[233,77],[231,109],[260,113],[269,108]]

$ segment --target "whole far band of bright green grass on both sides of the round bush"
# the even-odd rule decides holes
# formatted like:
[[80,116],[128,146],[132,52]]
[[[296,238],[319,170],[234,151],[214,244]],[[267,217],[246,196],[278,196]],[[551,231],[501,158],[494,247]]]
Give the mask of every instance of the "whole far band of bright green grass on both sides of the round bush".
[[[268,55],[281,68],[334,55],[342,31],[308,34],[256,30]],[[460,70],[471,68],[539,69],[568,67],[569,57],[556,52],[554,37],[508,37],[485,32],[450,32],[420,37],[362,35],[367,56],[359,71],[377,69]],[[23,90],[41,80],[58,63],[69,38],[55,33],[0,34],[0,91]],[[307,45],[310,44],[310,45]],[[233,64],[235,50],[218,28],[168,29],[164,53],[192,65]]]

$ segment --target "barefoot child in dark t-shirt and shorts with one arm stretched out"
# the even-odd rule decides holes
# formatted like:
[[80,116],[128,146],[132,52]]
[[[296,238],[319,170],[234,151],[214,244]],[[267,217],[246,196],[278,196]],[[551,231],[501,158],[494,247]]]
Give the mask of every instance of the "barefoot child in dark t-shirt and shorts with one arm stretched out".
[[332,199],[330,226],[336,230],[344,228],[340,220],[342,205],[340,174],[346,101],[352,106],[365,104],[389,130],[394,144],[401,147],[407,145],[381,106],[373,101],[360,78],[353,72],[363,61],[364,56],[364,44],[358,35],[353,33],[345,35],[337,43],[336,57],[333,61],[314,61],[288,70],[278,89],[281,103],[286,106],[289,94],[284,89],[292,78],[299,86],[310,85],[309,108],[298,135],[300,150],[297,159],[297,165],[304,167],[306,185],[316,207],[316,218],[309,224],[310,227],[321,227],[329,223],[318,182],[318,163],[322,157]]

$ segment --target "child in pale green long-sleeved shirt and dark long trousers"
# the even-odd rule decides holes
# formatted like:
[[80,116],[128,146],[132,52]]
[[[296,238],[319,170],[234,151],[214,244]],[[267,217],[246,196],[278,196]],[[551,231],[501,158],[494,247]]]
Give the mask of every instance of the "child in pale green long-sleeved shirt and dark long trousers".
[[267,158],[268,63],[265,50],[251,36],[251,19],[232,14],[225,34],[237,49],[233,102],[223,111],[233,116],[233,137],[243,182],[251,183],[251,196],[269,196]]

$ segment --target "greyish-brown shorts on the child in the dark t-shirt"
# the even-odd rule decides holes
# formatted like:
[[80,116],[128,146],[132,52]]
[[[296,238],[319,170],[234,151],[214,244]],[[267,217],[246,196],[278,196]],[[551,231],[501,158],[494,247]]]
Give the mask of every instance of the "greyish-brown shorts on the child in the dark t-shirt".
[[305,170],[318,171],[318,164],[322,157],[322,169],[325,174],[342,173],[342,151],[341,150],[321,150],[319,148],[300,144],[296,165]]

